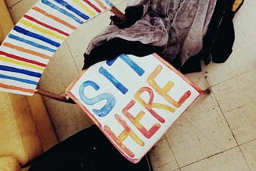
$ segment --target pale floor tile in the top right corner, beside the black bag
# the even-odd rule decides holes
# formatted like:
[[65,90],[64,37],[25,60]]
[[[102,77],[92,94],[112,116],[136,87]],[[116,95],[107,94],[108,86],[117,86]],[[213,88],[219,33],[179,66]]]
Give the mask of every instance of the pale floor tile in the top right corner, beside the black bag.
[[211,63],[205,72],[210,85],[217,85],[230,78],[256,68],[256,1],[246,0],[234,17],[235,41],[233,53],[223,64]]

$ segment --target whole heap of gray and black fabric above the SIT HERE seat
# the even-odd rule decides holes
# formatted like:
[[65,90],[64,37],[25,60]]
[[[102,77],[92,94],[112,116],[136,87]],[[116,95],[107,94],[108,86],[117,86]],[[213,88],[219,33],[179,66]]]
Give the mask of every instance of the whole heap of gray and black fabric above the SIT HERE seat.
[[110,17],[112,24],[87,47],[83,69],[119,54],[152,52],[183,74],[201,71],[202,60],[226,62],[234,44],[232,20],[242,2],[128,0],[126,20]]

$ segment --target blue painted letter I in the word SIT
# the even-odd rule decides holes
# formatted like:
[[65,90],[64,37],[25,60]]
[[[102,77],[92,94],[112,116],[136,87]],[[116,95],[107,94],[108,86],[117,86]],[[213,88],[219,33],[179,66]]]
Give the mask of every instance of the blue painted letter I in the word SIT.
[[100,67],[98,69],[98,72],[105,76],[119,91],[121,91],[123,94],[126,94],[128,92],[128,89],[126,89],[125,85],[122,85],[121,82],[118,82],[116,78],[114,78],[113,75],[111,75],[107,70],[105,70],[103,67]]

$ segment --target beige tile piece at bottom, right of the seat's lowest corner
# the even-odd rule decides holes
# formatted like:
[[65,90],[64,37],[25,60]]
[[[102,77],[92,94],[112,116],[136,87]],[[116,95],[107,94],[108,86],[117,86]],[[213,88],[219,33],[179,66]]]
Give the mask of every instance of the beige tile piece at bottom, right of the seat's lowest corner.
[[165,137],[154,145],[149,154],[154,171],[170,171],[178,169],[174,154],[172,153],[170,145],[168,144],[168,141]]

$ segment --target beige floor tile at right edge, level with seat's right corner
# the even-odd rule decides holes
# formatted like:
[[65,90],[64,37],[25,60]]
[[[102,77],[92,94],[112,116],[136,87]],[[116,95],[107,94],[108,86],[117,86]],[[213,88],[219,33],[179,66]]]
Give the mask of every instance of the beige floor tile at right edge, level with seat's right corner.
[[[256,101],[256,70],[214,86],[213,92],[224,113]],[[250,110],[248,112],[253,112]],[[255,113],[255,110],[254,110]]]

